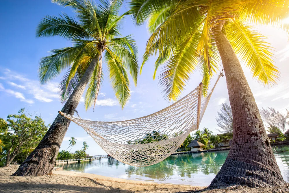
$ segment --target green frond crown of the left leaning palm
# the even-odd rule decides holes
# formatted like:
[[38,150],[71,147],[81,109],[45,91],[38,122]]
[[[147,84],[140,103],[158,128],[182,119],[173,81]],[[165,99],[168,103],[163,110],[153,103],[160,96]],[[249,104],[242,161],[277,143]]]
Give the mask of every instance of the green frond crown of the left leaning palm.
[[[77,20],[67,14],[46,16],[37,27],[37,37],[61,36],[72,41],[72,47],[53,49],[40,60],[41,84],[49,82],[66,70],[59,86],[65,102],[94,58],[98,60],[85,94],[86,110],[96,103],[103,80],[103,58],[107,63],[110,82],[122,108],[130,98],[129,76],[134,84],[138,76],[137,48],[131,35],[121,37],[121,21],[129,12],[118,15],[122,0],[52,0],[75,11]],[[104,54],[104,57],[103,57]]]

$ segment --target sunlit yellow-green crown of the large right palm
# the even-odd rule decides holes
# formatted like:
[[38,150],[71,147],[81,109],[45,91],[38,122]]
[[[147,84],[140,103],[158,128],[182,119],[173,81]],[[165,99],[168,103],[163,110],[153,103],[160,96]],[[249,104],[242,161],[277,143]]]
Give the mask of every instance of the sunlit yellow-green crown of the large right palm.
[[207,88],[221,66],[214,39],[220,25],[253,78],[264,85],[277,84],[279,71],[272,47],[249,23],[273,25],[288,32],[288,25],[281,21],[289,16],[289,1],[131,0],[130,8],[134,22],[141,25],[147,21],[151,33],[142,66],[150,56],[158,56],[153,78],[164,65],[160,86],[168,100],[178,99],[196,70],[201,71]]

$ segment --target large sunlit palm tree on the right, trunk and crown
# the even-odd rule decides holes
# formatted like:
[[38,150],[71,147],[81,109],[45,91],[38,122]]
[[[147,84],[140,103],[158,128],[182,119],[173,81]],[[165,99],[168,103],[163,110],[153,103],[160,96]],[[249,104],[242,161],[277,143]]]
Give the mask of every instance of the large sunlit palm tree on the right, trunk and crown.
[[288,25],[281,23],[289,16],[289,1],[130,0],[129,6],[134,22],[141,25],[147,21],[151,32],[142,66],[150,56],[158,54],[155,72],[165,65],[160,86],[168,100],[178,99],[197,69],[203,74],[206,89],[221,59],[234,136],[229,155],[210,188],[236,184],[284,187],[237,54],[255,80],[264,85],[277,84],[279,71],[273,64],[272,47],[246,21],[289,32]]

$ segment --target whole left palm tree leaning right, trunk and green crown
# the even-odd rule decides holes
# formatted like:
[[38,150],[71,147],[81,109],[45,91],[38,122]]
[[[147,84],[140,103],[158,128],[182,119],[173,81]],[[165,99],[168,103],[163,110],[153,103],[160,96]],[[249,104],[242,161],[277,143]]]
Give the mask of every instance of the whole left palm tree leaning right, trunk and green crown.
[[[85,108],[96,103],[103,80],[103,58],[107,63],[109,80],[123,108],[130,98],[129,76],[134,84],[138,76],[137,48],[131,36],[120,37],[121,21],[128,12],[118,15],[122,0],[52,0],[76,12],[78,21],[66,14],[47,16],[37,27],[37,37],[61,36],[73,42],[73,47],[54,49],[40,60],[40,83],[45,84],[67,69],[60,82],[63,113],[73,115],[81,96]],[[128,72],[127,72],[128,71]],[[51,173],[59,147],[70,120],[58,115],[38,147],[21,164],[14,175],[41,176]],[[35,164],[35,163],[41,164]]]

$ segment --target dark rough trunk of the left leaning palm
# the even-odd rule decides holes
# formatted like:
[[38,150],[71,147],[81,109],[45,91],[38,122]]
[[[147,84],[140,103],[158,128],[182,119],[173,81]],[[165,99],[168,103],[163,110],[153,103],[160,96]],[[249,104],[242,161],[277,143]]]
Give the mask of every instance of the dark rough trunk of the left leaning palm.
[[[102,53],[102,50],[101,52]],[[92,76],[99,60],[99,54],[93,58],[92,62],[86,69],[83,77],[77,84],[73,93],[70,95],[66,103],[62,108],[63,113],[73,115],[73,107],[76,108],[81,96],[84,93],[86,85]],[[35,150],[28,156],[28,158],[20,165],[18,170],[13,174],[14,176],[43,176],[51,174],[54,163],[56,161],[57,154],[59,152],[60,145],[64,138],[64,135],[70,124],[70,120],[64,116],[58,114],[53,124],[40,141]]]

